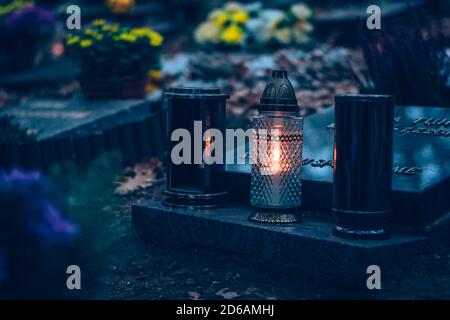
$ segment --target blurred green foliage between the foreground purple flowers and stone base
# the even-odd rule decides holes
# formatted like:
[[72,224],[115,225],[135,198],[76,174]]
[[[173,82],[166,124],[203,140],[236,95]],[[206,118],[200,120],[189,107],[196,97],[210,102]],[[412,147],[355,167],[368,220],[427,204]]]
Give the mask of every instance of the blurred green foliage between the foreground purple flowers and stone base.
[[[99,282],[120,259],[133,254],[131,221],[124,214],[127,199],[114,195],[116,177],[122,173],[120,155],[105,154],[86,169],[72,163],[52,169],[56,195],[65,204],[67,215],[80,226],[78,264],[83,274],[84,294],[96,295]],[[105,278],[106,277],[106,278]]]

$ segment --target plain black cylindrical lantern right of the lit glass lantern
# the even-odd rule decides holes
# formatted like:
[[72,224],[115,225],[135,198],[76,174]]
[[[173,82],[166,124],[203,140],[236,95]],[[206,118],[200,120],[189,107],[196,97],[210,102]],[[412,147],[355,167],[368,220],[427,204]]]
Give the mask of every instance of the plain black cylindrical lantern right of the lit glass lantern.
[[378,239],[389,233],[394,97],[337,95],[333,211],[334,234]]

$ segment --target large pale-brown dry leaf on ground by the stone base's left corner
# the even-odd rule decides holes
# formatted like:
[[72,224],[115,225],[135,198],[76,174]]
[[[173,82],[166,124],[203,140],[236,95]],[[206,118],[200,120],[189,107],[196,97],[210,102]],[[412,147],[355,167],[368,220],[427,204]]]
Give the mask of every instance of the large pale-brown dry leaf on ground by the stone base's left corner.
[[157,181],[157,172],[162,167],[162,162],[157,158],[139,162],[128,174],[119,178],[119,186],[115,193],[121,196],[129,195],[140,189],[151,187]]

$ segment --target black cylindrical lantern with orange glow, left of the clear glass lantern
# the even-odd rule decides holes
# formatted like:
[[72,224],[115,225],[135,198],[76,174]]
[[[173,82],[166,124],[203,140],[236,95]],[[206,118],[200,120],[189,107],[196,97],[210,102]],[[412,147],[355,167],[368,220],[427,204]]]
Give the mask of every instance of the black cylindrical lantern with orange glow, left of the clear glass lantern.
[[[219,206],[226,195],[218,172],[224,170],[225,108],[229,96],[217,88],[178,87],[167,90],[164,97],[168,108],[169,161],[167,198],[163,204]],[[214,156],[219,161],[211,163],[208,159]]]

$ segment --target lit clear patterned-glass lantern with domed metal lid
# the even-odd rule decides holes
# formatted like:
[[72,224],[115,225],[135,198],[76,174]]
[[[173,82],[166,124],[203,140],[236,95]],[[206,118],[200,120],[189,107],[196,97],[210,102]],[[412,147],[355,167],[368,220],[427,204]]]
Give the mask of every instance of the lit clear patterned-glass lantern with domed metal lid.
[[273,71],[252,119],[250,221],[300,220],[303,118],[286,71]]

